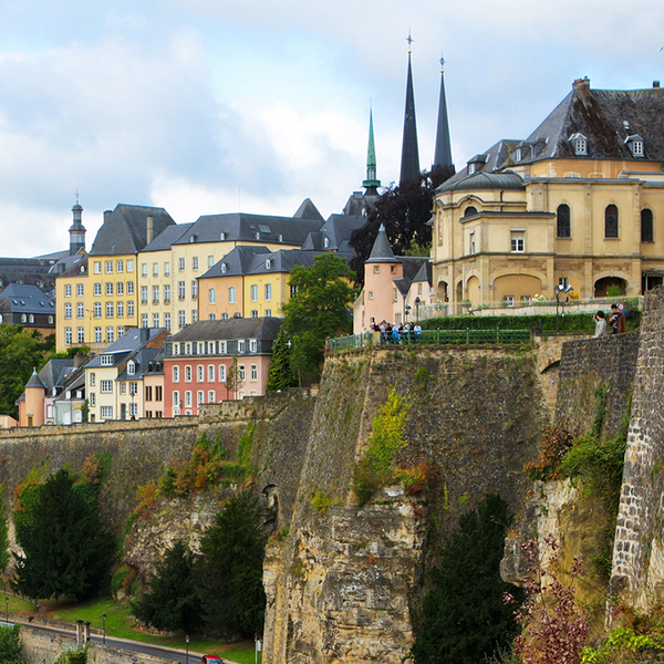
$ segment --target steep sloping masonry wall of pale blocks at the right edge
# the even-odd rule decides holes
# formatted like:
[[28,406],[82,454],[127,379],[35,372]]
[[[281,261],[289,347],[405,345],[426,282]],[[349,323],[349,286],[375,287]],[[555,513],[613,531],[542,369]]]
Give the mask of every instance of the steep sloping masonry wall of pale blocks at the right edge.
[[640,608],[664,599],[664,289],[643,313],[611,580]]

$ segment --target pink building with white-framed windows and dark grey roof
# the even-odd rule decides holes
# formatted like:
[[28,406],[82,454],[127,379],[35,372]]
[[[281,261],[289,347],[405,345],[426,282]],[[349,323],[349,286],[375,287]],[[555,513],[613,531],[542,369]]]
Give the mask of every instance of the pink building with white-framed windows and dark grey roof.
[[201,404],[266,393],[282,319],[199,321],[164,345],[164,416],[198,415]]

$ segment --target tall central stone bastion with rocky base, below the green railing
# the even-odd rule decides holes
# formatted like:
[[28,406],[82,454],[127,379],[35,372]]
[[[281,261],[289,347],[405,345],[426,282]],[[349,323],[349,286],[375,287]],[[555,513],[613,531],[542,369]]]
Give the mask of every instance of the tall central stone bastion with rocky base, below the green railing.
[[[387,487],[360,508],[351,491],[374,415],[395,387],[411,404],[401,453],[422,464],[422,495]],[[440,539],[489,491],[519,510],[523,464],[548,421],[533,352],[381,349],[329,356],[290,531],[264,564],[264,662],[401,662],[419,583]],[[315,496],[324,496],[321,508]]]

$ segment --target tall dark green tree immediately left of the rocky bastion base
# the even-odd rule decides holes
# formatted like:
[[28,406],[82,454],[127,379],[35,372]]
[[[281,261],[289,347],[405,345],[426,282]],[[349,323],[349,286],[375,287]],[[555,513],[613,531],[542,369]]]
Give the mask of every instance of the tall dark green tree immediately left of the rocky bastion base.
[[200,543],[198,584],[204,619],[220,636],[262,634],[266,536],[261,510],[249,492],[231,498]]

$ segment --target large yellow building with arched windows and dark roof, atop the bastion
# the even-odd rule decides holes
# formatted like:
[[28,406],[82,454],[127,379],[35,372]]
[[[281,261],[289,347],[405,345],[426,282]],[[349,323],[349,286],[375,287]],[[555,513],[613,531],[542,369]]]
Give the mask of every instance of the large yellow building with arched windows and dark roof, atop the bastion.
[[501,141],[435,193],[433,281],[473,308],[581,299],[662,283],[664,90],[593,91],[588,79],[529,136]]

